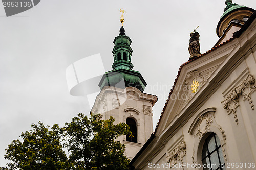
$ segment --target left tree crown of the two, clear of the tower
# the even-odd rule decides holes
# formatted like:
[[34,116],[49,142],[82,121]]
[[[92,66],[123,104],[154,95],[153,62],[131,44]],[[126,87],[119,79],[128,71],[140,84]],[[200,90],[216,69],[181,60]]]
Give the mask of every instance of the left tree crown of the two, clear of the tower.
[[[22,132],[23,141],[13,140],[5,150],[5,159],[11,160],[8,169],[70,169],[71,165],[62,150],[62,130],[53,125],[52,130],[43,123],[32,124],[33,130]],[[4,168],[3,168],[4,169]]]

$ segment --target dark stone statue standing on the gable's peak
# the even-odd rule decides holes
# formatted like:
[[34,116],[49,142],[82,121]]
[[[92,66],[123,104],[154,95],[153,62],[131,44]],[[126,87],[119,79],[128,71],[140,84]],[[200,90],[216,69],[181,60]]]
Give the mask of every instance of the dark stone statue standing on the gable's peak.
[[[190,39],[189,39],[189,47],[188,51],[189,54],[191,55],[190,58],[193,58],[195,56],[200,56],[200,43],[199,43],[199,33],[194,30],[195,33],[190,34]],[[190,59],[189,58],[189,59]]]

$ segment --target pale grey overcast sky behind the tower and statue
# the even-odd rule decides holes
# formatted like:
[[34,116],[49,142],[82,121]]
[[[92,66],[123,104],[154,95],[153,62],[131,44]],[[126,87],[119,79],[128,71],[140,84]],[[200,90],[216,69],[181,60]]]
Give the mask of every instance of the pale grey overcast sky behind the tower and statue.
[[[234,3],[256,7],[254,0]],[[189,58],[189,34],[197,27],[201,53],[218,40],[216,26],[225,0],[85,1],[42,0],[34,8],[6,17],[0,5],[0,167],[5,149],[39,120],[47,125],[89,114],[86,98],[69,94],[66,68],[100,53],[112,70],[113,40],[123,8],[126,35],[133,41],[132,63],[157,95],[154,129],[181,64]],[[93,65],[92,65],[93,66]]]

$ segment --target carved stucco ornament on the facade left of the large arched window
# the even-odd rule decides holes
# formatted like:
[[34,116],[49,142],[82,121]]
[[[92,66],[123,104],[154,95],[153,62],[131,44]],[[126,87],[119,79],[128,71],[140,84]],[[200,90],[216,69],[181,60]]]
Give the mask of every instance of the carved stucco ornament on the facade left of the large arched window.
[[176,148],[169,152],[170,155],[167,157],[167,162],[170,164],[176,164],[177,161],[183,163],[183,157],[186,155],[186,144],[185,141],[181,141]]

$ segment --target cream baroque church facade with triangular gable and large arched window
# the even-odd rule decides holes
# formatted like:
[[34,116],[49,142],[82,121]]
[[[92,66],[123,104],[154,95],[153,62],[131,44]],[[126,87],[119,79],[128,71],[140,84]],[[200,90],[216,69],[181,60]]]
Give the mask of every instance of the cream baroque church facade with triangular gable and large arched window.
[[[240,9],[239,17],[250,11]],[[250,15],[244,24],[221,26],[215,47],[181,66],[131,169],[256,169],[256,13]]]

